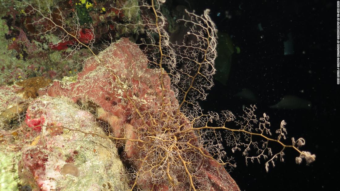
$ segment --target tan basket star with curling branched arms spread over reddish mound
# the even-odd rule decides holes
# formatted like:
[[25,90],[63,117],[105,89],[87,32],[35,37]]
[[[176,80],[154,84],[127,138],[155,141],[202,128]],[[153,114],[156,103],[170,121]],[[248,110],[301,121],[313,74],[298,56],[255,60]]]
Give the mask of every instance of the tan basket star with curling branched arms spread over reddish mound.
[[[275,136],[269,128],[269,116],[263,114],[258,119],[254,114],[255,106],[245,109],[240,119],[236,119],[229,111],[221,114],[203,112],[197,100],[205,99],[205,91],[213,86],[214,60],[217,56],[216,27],[209,17],[209,10],[203,15],[186,11],[187,15],[178,22],[188,27],[184,39],[189,40],[171,43],[166,31],[166,19],[160,11],[162,3],[160,0],[151,0],[149,5],[141,1],[141,20],[131,23],[138,24],[139,32],[148,37],[139,44],[146,47],[143,52],[147,57],[135,58],[147,62],[149,68],[145,67],[143,71],[150,73],[145,74],[139,74],[133,68],[141,65],[131,64],[133,66],[129,69],[124,66],[107,67],[106,63],[114,59],[108,60],[103,55],[111,52],[94,54],[91,50],[92,39],[87,43],[82,42],[77,36],[77,29],[65,26],[63,19],[56,23],[51,15],[44,16],[38,8],[30,5],[50,24],[44,33],[62,30],[65,34],[62,40],[77,39],[73,45],[75,49],[83,46],[94,54],[94,58],[90,59],[96,63],[97,72],[108,71],[106,74],[93,74],[94,77],[88,79],[92,73],[84,74],[83,81],[77,84],[79,90],[68,87],[70,92],[65,93],[69,97],[79,98],[82,106],[96,115],[107,136],[64,126],[41,126],[46,129],[62,127],[116,141],[119,147],[124,147],[123,159],[131,164],[131,168],[127,169],[133,180],[131,190],[239,190],[224,169],[224,166],[236,166],[232,163],[232,156],[227,157],[229,153],[226,153],[224,145],[232,147],[233,152],[243,151],[246,161],[260,161],[263,158],[267,171],[270,163],[274,166],[277,157],[283,160],[286,148],[292,148],[300,154],[296,157],[296,163],[301,163],[302,159],[306,159],[307,164],[314,161],[315,155],[300,150],[305,143],[303,138],[292,138],[290,145],[283,142],[287,135],[285,121],[275,131]],[[150,15],[151,18],[148,17]],[[79,24],[75,26],[79,29]],[[131,50],[136,46],[127,40],[119,43],[131,46]],[[94,78],[101,85],[89,85],[86,82]],[[138,81],[137,85],[135,81]],[[99,96],[89,96],[91,89],[106,90],[107,84],[111,86],[107,93],[111,97],[100,100]],[[62,87],[61,83],[54,83],[51,89],[58,87]],[[110,106],[106,107],[106,103],[110,103]],[[230,128],[235,125],[238,128]],[[261,139],[261,144],[254,138]],[[272,153],[269,142],[276,142],[282,150]],[[251,156],[252,150],[257,155]]]

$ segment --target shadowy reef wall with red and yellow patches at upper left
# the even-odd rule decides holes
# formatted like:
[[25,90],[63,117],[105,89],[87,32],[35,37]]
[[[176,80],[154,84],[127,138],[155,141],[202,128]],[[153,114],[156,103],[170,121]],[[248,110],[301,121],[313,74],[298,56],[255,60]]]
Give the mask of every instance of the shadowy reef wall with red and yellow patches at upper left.
[[[33,10],[29,3],[39,7],[40,12]],[[1,1],[1,4],[0,61],[3,64],[0,84],[36,76],[61,80],[64,76],[74,76],[73,73],[81,69],[79,65],[90,51],[79,50],[75,39],[63,34],[52,22],[72,25],[68,28],[72,34],[83,43],[94,44],[96,50],[105,48],[102,41],[118,39],[138,29],[138,25],[121,25],[138,22],[137,0],[95,4],[90,1],[14,0],[11,3]],[[53,20],[47,21],[42,15],[49,15]]]

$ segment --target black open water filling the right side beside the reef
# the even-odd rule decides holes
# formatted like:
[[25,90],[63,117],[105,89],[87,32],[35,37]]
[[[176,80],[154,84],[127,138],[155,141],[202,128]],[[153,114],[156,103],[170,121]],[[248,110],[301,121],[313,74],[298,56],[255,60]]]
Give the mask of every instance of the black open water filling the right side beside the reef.
[[[286,150],[285,161],[265,171],[264,162],[245,166],[241,152],[231,153],[237,168],[230,174],[241,190],[332,190],[339,174],[339,85],[336,84],[336,1],[173,0],[210,16],[220,32],[232,36],[240,54],[232,57],[225,84],[215,81],[204,110],[230,110],[256,104],[274,129],[287,122],[290,137],[304,137],[302,150],[317,155],[309,166],[295,164],[298,153]],[[227,14],[225,12],[227,11]],[[231,16],[231,18],[225,18]],[[263,30],[259,30],[261,23]],[[293,45],[285,50],[284,42]],[[285,51],[290,54],[285,55]],[[235,96],[250,89],[257,100]],[[285,95],[310,101],[309,109],[271,109]],[[272,130],[274,132],[274,129]],[[276,147],[272,145],[273,149]],[[279,147],[276,149],[280,149]]]

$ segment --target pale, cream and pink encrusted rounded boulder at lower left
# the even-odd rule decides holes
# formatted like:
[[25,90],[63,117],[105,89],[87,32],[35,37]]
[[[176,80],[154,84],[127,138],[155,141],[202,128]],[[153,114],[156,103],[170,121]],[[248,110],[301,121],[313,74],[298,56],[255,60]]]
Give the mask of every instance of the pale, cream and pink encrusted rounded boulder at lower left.
[[[39,119],[39,125],[65,125],[103,134],[91,113],[79,109],[65,98],[37,98],[29,104],[27,116],[32,120]],[[30,127],[29,120],[26,123],[22,126]],[[18,176],[13,177],[17,177],[20,185],[30,185],[34,190],[128,188],[127,177],[122,173],[124,167],[110,139],[84,136],[81,132],[63,128],[46,129],[40,126],[39,131],[34,127],[32,129],[35,131],[19,129],[19,135],[14,140],[3,139],[1,142],[1,148],[12,153],[7,160],[18,164],[13,172]],[[28,144],[28,140],[33,141]],[[10,145],[12,149],[5,148]],[[21,153],[17,152],[19,150]],[[14,154],[20,157],[12,156]]]

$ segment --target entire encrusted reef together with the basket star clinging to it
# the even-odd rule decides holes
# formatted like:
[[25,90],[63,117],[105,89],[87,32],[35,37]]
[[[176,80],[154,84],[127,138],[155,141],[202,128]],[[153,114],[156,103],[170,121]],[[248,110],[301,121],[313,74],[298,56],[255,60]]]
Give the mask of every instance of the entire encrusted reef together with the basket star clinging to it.
[[[164,1],[50,3],[18,1],[21,11],[9,6],[0,30],[12,41],[0,50],[17,52],[13,62],[21,63],[6,62],[2,75],[12,77],[0,86],[0,148],[12,161],[4,176],[17,175],[8,187],[238,191],[225,146],[242,150],[246,161],[267,160],[267,171],[286,148],[300,154],[297,163],[315,160],[300,150],[303,138],[283,142],[285,121],[272,135],[269,116],[258,119],[255,106],[239,119],[203,112],[198,100],[214,85],[217,57],[208,9],[184,11],[177,20],[187,27],[184,40],[171,41]],[[110,43],[128,34],[140,35],[139,44],[124,37]],[[269,142],[282,150],[273,153]]]

